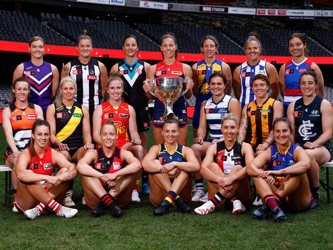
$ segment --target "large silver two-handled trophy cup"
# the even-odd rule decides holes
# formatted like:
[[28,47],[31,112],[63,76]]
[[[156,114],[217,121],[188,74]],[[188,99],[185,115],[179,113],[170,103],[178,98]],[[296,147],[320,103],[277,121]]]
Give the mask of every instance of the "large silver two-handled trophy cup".
[[180,96],[188,92],[188,89],[183,91],[183,82],[191,80],[190,78],[182,77],[160,77],[155,79],[147,79],[146,82],[152,82],[154,85],[155,93],[149,91],[153,96],[157,97],[164,104],[164,114],[162,120],[170,113],[174,113],[172,106]]

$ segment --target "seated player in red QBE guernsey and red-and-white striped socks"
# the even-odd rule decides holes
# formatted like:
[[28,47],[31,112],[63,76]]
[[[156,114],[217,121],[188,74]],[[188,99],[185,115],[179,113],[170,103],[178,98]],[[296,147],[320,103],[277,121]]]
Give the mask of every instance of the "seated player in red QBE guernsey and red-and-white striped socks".
[[[77,213],[76,209],[60,205],[77,171],[64,155],[48,147],[49,140],[50,124],[36,120],[32,126],[30,147],[17,158],[19,181],[14,205],[18,212],[31,220],[43,213],[46,206],[66,218]],[[58,173],[52,176],[55,166]]]

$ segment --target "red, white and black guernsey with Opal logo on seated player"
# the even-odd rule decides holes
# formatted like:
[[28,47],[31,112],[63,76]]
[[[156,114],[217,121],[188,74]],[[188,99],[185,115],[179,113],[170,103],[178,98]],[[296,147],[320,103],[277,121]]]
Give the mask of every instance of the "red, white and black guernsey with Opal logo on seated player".
[[237,141],[232,149],[225,147],[224,141],[216,144],[216,156],[214,161],[219,165],[225,175],[230,174],[235,165],[245,166],[245,159],[242,156],[242,145]]

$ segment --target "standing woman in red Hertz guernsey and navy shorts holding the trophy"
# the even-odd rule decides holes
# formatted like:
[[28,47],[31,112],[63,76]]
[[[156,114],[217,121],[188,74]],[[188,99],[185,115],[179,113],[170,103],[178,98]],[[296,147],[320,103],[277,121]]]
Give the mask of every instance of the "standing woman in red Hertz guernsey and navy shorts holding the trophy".
[[[181,78],[184,78],[185,88],[188,89],[184,94],[186,98],[190,98],[192,95],[193,88],[193,80],[192,78],[192,70],[189,65],[182,64],[177,60],[177,40],[173,33],[165,33],[162,35],[160,39],[160,49],[162,51],[163,60],[160,63],[153,65],[150,67],[147,77],[148,79],[143,84],[143,89],[147,94],[149,99],[154,99],[154,86],[153,80],[154,78],[161,78],[160,83],[165,79],[165,81],[176,81],[177,77],[179,81],[182,81]],[[152,95],[154,94],[154,95]],[[166,101],[166,100],[165,100]],[[180,125],[180,134],[178,136],[177,142],[186,145],[188,140],[188,116],[185,109],[184,97],[180,96],[177,100],[175,100],[173,104],[173,112],[175,116],[177,116],[179,125]],[[164,114],[164,105],[163,102],[158,98],[155,98],[155,107],[153,113],[153,134],[154,134],[154,142],[155,144],[160,144],[164,142],[164,138],[161,133],[161,129],[163,127],[163,122],[165,119]]]

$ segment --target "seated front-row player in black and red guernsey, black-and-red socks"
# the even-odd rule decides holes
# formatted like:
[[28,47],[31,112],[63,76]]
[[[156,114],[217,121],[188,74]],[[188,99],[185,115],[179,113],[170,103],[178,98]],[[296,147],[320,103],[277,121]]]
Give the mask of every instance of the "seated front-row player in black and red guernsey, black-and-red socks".
[[141,165],[131,152],[115,146],[117,129],[113,120],[102,125],[100,138],[102,147],[88,151],[77,163],[77,170],[86,203],[93,209],[92,215],[99,217],[108,209],[113,217],[119,217],[122,214],[119,207],[127,206],[132,200],[136,173]]

